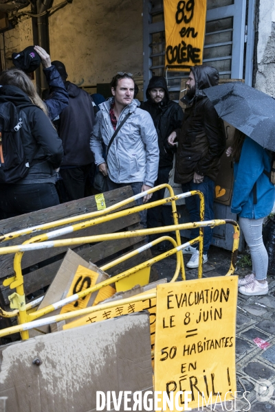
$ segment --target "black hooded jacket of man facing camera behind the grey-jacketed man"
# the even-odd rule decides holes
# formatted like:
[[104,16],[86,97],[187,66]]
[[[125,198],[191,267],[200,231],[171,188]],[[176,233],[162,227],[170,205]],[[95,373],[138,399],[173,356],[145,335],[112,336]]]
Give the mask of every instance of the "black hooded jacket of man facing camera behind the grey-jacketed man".
[[[162,87],[165,97],[160,103],[151,100],[149,90],[154,87]],[[157,130],[159,144],[159,168],[173,165],[173,149],[168,145],[167,138],[173,130],[180,128],[184,118],[184,112],[179,104],[169,100],[166,80],[162,76],[153,76],[146,90],[147,101],[140,108],[150,113]]]

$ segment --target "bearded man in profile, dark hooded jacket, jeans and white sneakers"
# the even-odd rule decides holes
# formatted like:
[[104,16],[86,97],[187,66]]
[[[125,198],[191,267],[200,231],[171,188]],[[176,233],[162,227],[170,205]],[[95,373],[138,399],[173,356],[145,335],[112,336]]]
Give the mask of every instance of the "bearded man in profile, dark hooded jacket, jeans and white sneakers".
[[[177,147],[175,183],[181,183],[183,192],[199,190],[205,201],[204,220],[214,219],[214,181],[220,168],[221,155],[225,150],[226,137],[223,120],[219,119],[214,106],[203,93],[203,89],[219,83],[219,72],[211,66],[198,65],[190,68],[186,86],[188,92],[181,99],[186,104],[184,123],[176,136],[171,135],[168,142]],[[191,222],[198,222],[199,197],[186,198],[186,208]],[[192,229],[191,239],[199,236],[199,229]],[[211,227],[203,229],[203,263],[208,261],[208,249],[212,239]],[[199,266],[199,250],[188,246],[184,254],[192,254],[188,268]]]

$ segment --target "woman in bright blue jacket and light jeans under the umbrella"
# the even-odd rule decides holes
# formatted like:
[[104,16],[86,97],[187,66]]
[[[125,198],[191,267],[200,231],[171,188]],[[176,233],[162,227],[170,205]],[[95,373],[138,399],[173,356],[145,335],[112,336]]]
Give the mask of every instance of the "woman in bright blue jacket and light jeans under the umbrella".
[[270,181],[272,157],[256,141],[237,130],[232,148],[226,151],[234,160],[234,187],[231,211],[250,249],[252,273],[239,279],[239,293],[247,296],[268,293],[268,256],[263,244],[263,219],[274,206],[275,187]]

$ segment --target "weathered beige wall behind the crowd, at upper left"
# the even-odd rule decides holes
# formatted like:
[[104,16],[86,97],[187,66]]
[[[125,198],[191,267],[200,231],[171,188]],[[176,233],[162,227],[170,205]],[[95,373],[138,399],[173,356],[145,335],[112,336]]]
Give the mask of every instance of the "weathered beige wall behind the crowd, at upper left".
[[[33,44],[32,19],[0,36],[5,69],[13,52]],[[74,0],[49,17],[49,36],[52,60],[62,60],[79,86],[110,82],[117,71],[142,78],[142,0]]]

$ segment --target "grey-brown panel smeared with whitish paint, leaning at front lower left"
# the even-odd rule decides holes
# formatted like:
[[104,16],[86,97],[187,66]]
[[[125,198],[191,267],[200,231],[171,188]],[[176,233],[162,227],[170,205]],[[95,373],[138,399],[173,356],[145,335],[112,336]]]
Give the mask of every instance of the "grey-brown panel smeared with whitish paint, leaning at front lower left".
[[0,354],[5,412],[94,412],[96,391],[118,398],[153,389],[148,313],[36,336]]

